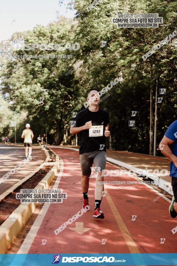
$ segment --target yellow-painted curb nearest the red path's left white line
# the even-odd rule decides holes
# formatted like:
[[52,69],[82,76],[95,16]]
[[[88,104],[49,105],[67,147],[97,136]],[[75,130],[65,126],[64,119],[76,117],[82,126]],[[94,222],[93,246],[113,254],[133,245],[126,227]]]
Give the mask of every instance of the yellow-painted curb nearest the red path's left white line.
[[[44,164],[45,162],[41,164],[41,166]],[[55,162],[51,162],[50,164],[53,165],[52,169],[40,181],[35,189],[47,189],[49,187],[49,184],[57,175],[57,171],[59,169],[58,155],[56,155]],[[0,254],[5,254],[7,249],[10,248],[14,238],[18,235],[22,227],[30,218],[31,214],[34,212],[36,205],[37,203],[21,203],[0,226]],[[15,221],[12,221],[12,216],[16,216]]]

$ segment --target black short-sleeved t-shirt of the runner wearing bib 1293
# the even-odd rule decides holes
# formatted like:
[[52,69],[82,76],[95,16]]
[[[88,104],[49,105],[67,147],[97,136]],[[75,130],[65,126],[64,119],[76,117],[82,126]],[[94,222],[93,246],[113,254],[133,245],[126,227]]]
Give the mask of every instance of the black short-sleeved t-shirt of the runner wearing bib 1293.
[[[86,122],[92,121],[92,126],[103,126],[103,136],[99,137],[89,137],[89,129],[79,132],[80,146],[79,154],[89,152],[89,151],[106,151],[105,145],[105,126],[109,123],[109,113],[99,109],[97,112],[91,112],[89,109],[85,109],[79,112],[74,119],[76,121],[74,127],[81,127],[85,125]],[[100,132],[100,129],[93,128],[92,132]],[[100,134],[100,133],[98,133]]]

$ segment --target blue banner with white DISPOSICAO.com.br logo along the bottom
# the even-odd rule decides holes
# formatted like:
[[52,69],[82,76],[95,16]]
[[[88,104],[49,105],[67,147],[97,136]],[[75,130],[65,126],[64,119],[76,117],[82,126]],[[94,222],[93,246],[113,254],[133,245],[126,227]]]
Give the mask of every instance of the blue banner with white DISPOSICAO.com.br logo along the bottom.
[[177,253],[0,254],[1,266],[177,265]]

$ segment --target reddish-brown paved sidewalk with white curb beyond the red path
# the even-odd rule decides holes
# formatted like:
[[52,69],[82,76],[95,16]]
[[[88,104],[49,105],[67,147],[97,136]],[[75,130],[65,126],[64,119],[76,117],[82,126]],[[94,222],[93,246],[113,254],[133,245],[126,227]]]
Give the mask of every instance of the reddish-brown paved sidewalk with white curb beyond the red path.
[[[53,147],[63,147],[63,148],[74,148],[79,149],[79,146],[63,145],[63,146],[53,146]],[[150,170],[158,169],[159,172],[162,169],[168,170],[168,175],[162,176],[160,174],[150,174],[147,173],[151,179],[155,181],[155,184],[173,195],[171,186],[171,177],[169,177],[170,161],[165,157],[153,156],[148,154],[135,153],[130,151],[113,151],[106,150],[107,161],[116,165],[119,165],[127,170],[134,169],[145,170],[146,167]]]

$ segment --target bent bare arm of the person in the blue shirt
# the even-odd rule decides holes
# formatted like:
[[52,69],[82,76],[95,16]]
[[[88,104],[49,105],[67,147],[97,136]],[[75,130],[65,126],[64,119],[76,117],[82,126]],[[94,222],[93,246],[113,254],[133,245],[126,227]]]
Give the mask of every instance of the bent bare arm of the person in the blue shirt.
[[[172,153],[170,149],[170,145],[173,144],[175,141],[167,138],[166,136],[163,137],[163,139],[160,141],[159,149],[167,157],[171,162],[175,164],[175,167],[177,167],[177,157]],[[163,149],[161,148],[164,145]]]

